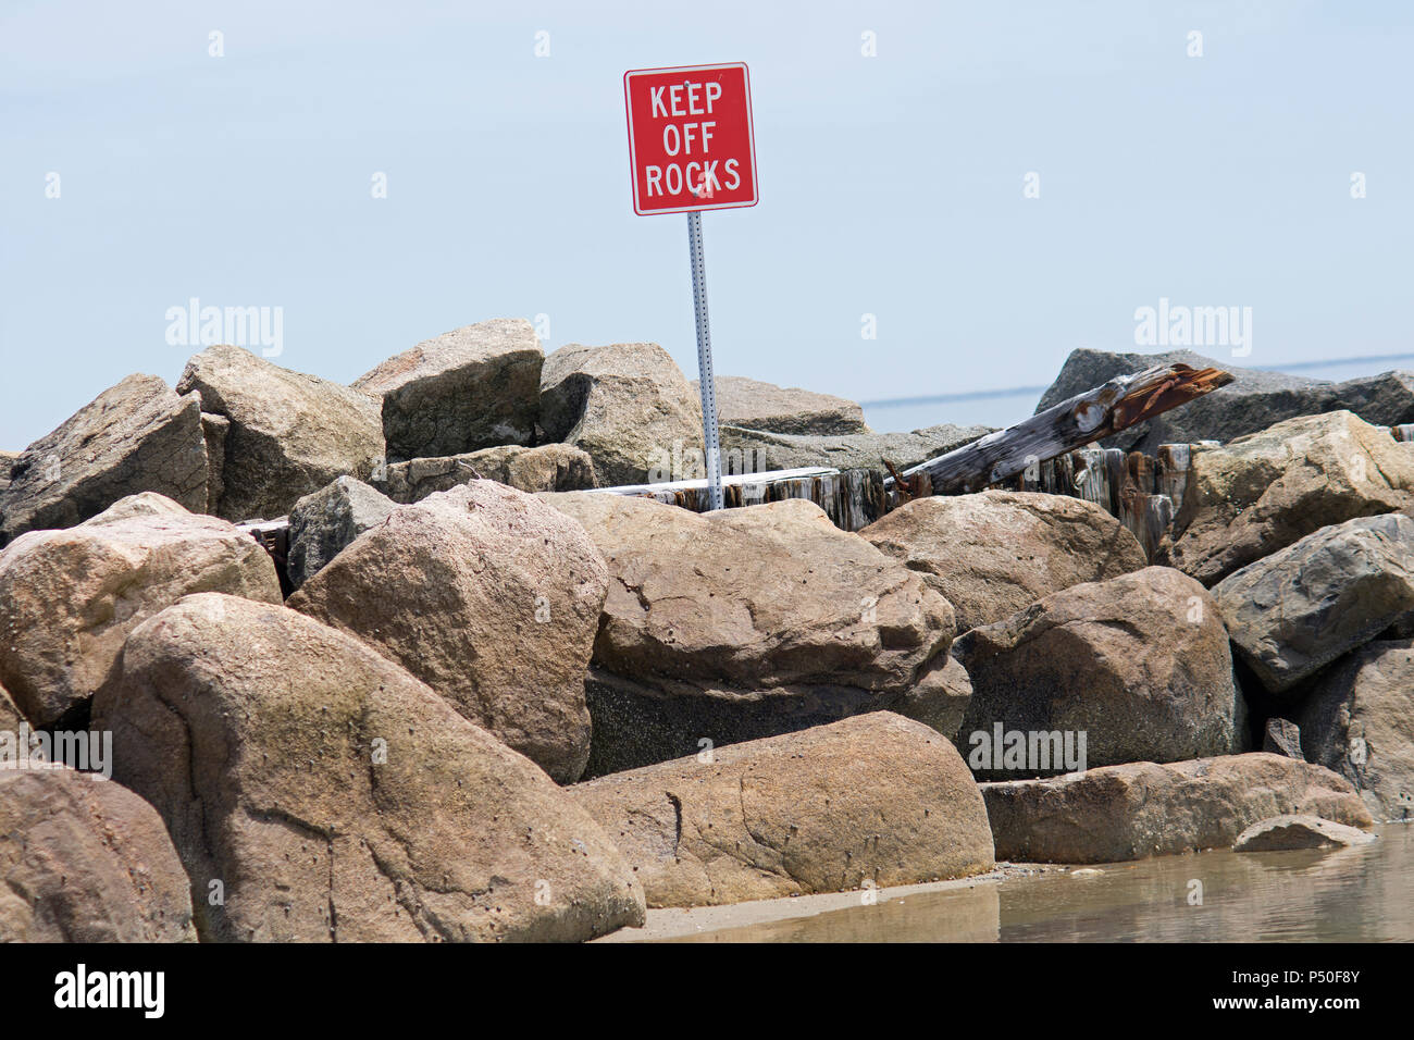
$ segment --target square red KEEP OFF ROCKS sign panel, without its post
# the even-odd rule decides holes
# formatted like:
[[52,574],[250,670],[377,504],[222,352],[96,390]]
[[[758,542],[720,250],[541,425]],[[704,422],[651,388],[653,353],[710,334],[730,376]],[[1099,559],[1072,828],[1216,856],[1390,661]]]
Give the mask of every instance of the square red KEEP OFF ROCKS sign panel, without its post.
[[756,204],[745,65],[632,69],[624,99],[636,214]]

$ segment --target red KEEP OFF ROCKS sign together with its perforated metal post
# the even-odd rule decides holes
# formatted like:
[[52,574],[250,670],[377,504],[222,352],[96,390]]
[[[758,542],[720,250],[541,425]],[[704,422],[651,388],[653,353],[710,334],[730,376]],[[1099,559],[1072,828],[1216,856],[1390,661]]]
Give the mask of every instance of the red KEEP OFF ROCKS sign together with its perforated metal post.
[[711,371],[701,211],[756,204],[749,74],[742,62],[631,69],[624,74],[624,106],[633,212],[687,214],[708,507],[720,509],[721,430]]

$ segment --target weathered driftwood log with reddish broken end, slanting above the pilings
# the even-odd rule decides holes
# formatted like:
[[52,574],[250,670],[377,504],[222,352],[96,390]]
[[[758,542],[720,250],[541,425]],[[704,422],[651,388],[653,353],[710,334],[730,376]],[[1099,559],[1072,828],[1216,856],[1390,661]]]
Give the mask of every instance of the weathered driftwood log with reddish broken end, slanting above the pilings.
[[[1232,374],[1222,369],[1198,369],[1184,364],[1155,365],[1133,375],[1120,375],[1025,422],[919,463],[899,475],[912,481],[915,474],[926,473],[932,491],[937,495],[981,491],[1028,467],[1152,419],[1232,381]],[[895,478],[885,478],[884,487],[896,497]]]

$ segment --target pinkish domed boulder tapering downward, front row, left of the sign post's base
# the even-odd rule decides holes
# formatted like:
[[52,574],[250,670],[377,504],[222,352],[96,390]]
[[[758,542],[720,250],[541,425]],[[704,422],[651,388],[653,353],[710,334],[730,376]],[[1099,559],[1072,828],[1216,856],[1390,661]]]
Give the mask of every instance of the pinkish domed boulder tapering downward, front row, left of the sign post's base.
[[481,480],[396,508],[290,606],[403,665],[570,782],[590,754],[584,669],[607,589],[578,524]]

